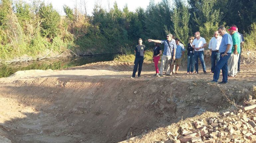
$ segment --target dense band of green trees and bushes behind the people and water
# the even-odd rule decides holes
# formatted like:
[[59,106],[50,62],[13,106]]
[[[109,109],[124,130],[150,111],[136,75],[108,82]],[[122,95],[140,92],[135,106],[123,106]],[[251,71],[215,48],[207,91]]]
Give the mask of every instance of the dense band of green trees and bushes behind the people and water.
[[[0,0],[0,61],[41,58],[69,50],[76,54],[118,53],[133,49],[138,38],[164,40],[172,33],[183,43],[194,32],[209,42],[218,26],[236,24],[247,48],[255,48],[255,0],[150,0],[146,9],[129,11],[115,2],[108,10],[95,4],[92,15],[64,5],[60,16],[41,0]],[[248,44],[248,42],[250,44]],[[126,50],[127,51],[127,50]],[[123,52],[125,53],[125,52]]]

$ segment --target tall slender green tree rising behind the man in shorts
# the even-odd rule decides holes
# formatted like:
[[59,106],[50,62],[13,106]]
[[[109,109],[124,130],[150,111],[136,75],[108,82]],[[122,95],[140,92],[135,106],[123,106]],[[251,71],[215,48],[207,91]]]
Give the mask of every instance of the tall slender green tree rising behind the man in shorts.
[[189,38],[189,19],[189,7],[185,5],[183,0],[175,0],[173,12],[174,32],[183,44],[186,44]]

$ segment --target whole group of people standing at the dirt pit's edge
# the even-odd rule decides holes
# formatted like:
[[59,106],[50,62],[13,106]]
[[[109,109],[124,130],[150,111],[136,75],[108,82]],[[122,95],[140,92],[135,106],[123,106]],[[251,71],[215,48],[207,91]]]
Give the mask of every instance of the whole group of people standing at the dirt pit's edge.
[[[231,25],[228,31],[229,34],[226,32],[225,27],[220,26],[218,31],[214,32],[213,37],[209,41],[208,49],[211,51],[211,73],[214,74],[213,80],[210,81],[210,83],[217,83],[220,70],[222,70],[223,75],[222,82],[220,83],[227,83],[228,77],[235,77],[236,74],[240,71],[241,44],[243,44],[244,39],[242,34],[238,33],[236,25]],[[172,34],[168,34],[166,35],[166,40],[148,39],[148,42],[155,42],[154,54],[152,56],[156,69],[155,76],[163,76],[165,67],[167,76],[178,74],[179,65],[181,64],[181,60],[186,51],[184,45],[180,43],[180,39],[174,39]],[[160,48],[160,44],[164,45],[163,52]],[[200,59],[203,73],[207,74],[204,62],[204,48],[206,48],[206,46],[206,41],[203,37],[200,36],[200,32],[195,32],[194,37],[189,37],[189,43],[187,45],[187,74],[199,73],[198,58]],[[140,77],[145,50],[145,45],[142,44],[142,39],[140,38],[139,45],[136,46],[134,50],[135,65],[132,75],[133,78],[137,72],[138,65],[138,77]],[[161,55],[162,59],[159,69],[158,62],[161,58]]]

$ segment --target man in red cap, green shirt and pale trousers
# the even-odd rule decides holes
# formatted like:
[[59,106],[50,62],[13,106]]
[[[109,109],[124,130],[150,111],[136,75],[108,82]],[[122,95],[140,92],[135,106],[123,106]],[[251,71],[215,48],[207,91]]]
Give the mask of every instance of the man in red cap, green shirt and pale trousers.
[[230,58],[228,59],[228,77],[232,78],[235,77],[237,73],[237,64],[240,54],[240,36],[236,32],[236,27],[232,26],[228,29],[229,34],[232,36],[232,50]]

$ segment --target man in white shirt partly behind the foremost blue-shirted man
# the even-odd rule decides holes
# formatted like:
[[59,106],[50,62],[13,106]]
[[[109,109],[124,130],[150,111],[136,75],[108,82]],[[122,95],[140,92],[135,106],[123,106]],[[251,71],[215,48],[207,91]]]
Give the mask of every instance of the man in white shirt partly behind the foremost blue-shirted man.
[[213,73],[216,63],[219,61],[219,45],[222,37],[219,36],[219,32],[215,31],[213,37],[209,42],[209,50],[211,51],[211,73]]

